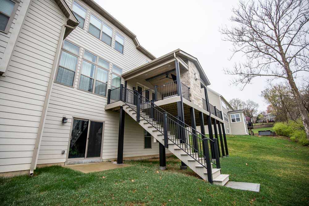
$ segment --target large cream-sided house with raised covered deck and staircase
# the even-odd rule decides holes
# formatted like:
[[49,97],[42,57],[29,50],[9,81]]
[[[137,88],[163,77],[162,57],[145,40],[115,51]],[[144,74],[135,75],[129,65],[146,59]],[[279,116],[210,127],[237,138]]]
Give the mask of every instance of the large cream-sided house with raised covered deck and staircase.
[[[216,108],[208,104],[207,93],[215,92],[197,58],[180,49],[155,58],[93,0],[2,2],[2,175],[159,155],[164,169],[165,153],[173,153],[181,168],[215,184],[228,181],[217,164],[228,155],[227,123],[234,116],[231,124],[245,122],[221,95],[209,98]],[[204,128],[215,135],[206,138]],[[210,149],[215,137],[218,150]]]

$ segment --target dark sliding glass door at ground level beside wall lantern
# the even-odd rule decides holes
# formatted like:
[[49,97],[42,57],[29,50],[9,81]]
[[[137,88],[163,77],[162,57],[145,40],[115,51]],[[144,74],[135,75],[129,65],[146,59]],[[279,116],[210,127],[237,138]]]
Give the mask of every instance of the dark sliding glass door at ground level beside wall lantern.
[[103,124],[103,122],[73,119],[68,158],[101,157]]

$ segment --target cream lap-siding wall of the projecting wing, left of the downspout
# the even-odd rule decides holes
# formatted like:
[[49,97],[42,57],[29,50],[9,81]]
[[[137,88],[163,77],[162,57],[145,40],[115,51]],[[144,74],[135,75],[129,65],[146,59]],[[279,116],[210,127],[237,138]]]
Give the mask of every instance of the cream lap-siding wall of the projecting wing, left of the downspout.
[[[16,15],[11,27],[14,21]],[[54,0],[32,0],[6,76],[0,76],[0,173],[29,170],[64,22]],[[10,35],[1,33],[0,44]]]

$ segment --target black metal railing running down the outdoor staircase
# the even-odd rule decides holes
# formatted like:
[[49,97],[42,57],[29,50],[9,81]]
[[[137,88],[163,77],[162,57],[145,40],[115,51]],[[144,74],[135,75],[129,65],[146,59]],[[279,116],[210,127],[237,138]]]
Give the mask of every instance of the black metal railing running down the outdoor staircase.
[[[112,90],[109,90],[110,92]],[[211,182],[211,162],[217,168],[220,168],[217,139],[209,139],[188,124],[180,121],[179,117],[175,117],[155,105],[153,100],[150,101],[136,90],[129,90],[121,85],[116,94],[118,93],[119,98],[114,97],[113,100],[123,101],[136,112],[137,122],[142,118],[159,131],[164,137],[165,147],[168,147],[169,140],[205,167],[207,173],[210,174],[208,178]],[[112,97],[111,94],[108,97]],[[108,100],[108,102],[111,101]]]

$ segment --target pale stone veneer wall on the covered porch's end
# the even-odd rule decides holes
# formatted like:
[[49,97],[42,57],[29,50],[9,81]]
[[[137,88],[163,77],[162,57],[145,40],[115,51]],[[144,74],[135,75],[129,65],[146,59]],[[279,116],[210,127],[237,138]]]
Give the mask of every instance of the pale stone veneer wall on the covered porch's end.
[[[186,61],[188,64],[188,71],[180,71],[181,82],[190,87],[190,100],[192,103],[196,104],[199,107],[203,107],[202,102],[202,93],[201,93],[201,83],[200,83],[200,74],[192,61]],[[196,74],[197,80],[194,78]]]

